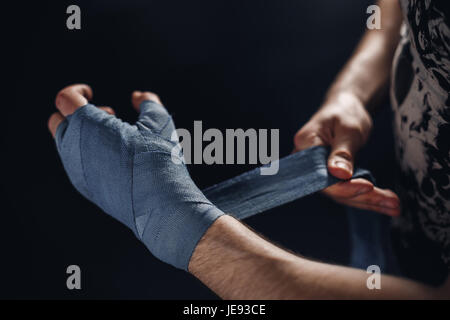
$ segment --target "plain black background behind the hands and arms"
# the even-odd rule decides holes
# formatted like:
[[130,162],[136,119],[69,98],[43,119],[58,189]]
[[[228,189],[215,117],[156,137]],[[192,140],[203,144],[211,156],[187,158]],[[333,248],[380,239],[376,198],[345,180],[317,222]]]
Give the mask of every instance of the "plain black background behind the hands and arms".
[[[93,103],[133,121],[133,90],[158,93],[177,127],[279,128],[280,155],[316,110],[365,30],[373,1],[39,1],[4,9],[2,105],[2,298],[207,299],[189,274],[156,260],[126,227],[70,185],[47,130],[56,93],[87,83]],[[77,4],[82,29],[66,28]],[[11,81],[8,81],[11,84]],[[9,87],[7,87],[9,88]],[[6,101],[6,102],[5,102]],[[391,184],[389,107],[360,153],[382,187]],[[251,166],[190,166],[206,187]],[[320,195],[247,221],[306,256],[345,263],[345,214]],[[66,268],[82,290],[66,288]]]

